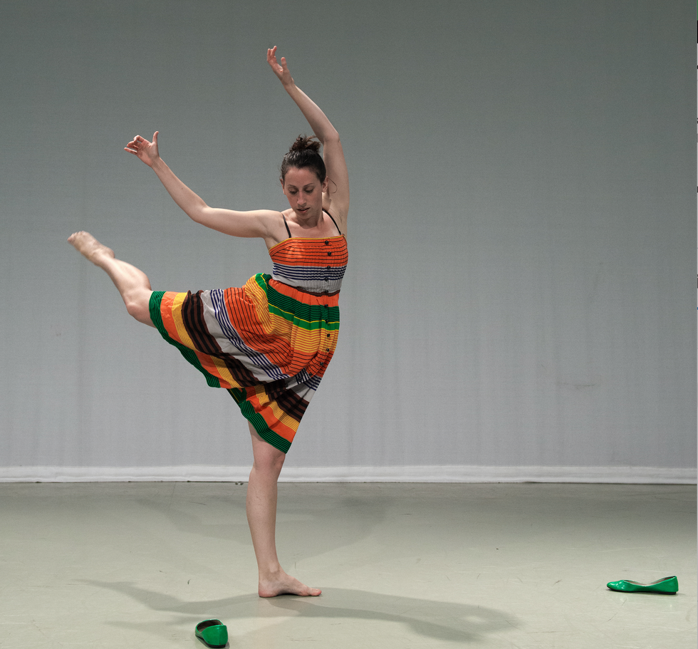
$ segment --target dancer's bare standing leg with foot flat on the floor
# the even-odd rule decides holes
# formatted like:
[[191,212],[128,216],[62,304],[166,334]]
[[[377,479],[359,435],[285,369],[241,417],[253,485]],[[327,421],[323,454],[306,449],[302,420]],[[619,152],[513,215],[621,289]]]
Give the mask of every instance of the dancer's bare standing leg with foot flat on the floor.
[[254,464],[247,484],[247,521],[259,568],[259,596],[274,597],[282,593],[319,595],[321,591],[318,588],[310,588],[288,576],[278,563],[276,481],[286,454],[259,437],[251,424],[249,430]]

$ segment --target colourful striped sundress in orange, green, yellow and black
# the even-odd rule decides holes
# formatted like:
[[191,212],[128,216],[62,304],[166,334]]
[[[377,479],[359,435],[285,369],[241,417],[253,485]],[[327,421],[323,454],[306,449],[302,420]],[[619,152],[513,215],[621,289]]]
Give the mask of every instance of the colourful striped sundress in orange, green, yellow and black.
[[241,289],[154,291],[150,318],[285,453],[337,346],[348,249],[340,234],[285,239],[269,254],[272,274],[256,274]]

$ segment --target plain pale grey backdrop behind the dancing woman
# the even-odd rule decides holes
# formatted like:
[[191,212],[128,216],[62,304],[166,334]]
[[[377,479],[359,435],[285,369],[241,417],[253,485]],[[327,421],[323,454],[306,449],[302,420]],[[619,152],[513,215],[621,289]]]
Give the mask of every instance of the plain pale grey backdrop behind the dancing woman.
[[289,469],[692,469],[693,11],[4,2],[1,470],[249,463],[229,395],[66,237],[88,229],[155,289],[269,271],[261,241],[190,222],[123,146],[160,130],[209,204],[283,209],[278,164],[307,128],[274,44],[352,189],[338,353]]

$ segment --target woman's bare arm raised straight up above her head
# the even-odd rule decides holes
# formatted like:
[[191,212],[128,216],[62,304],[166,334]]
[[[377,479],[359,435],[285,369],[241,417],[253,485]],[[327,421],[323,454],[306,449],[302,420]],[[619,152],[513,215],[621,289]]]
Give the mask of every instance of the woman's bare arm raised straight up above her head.
[[323,207],[328,209],[335,219],[340,219],[340,229],[342,232],[346,232],[346,219],[349,211],[349,173],[339,133],[330,123],[327,115],[293,81],[288,66],[286,66],[286,58],[282,56],[281,63],[278,63],[276,46],[266,51],[266,60],[278,80],[281,81],[284,90],[291,95],[291,99],[301,109],[301,113],[313,129],[313,133],[322,142],[323,160],[330,180],[328,191],[323,195]]

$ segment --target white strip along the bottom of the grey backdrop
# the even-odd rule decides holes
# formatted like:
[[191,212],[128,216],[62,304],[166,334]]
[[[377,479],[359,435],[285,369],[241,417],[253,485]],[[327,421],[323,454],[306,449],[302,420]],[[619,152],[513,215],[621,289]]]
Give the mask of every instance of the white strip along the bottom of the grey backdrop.
[[[249,467],[0,467],[0,482],[247,482]],[[287,467],[279,482],[599,482],[697,484],[694,468]]]

